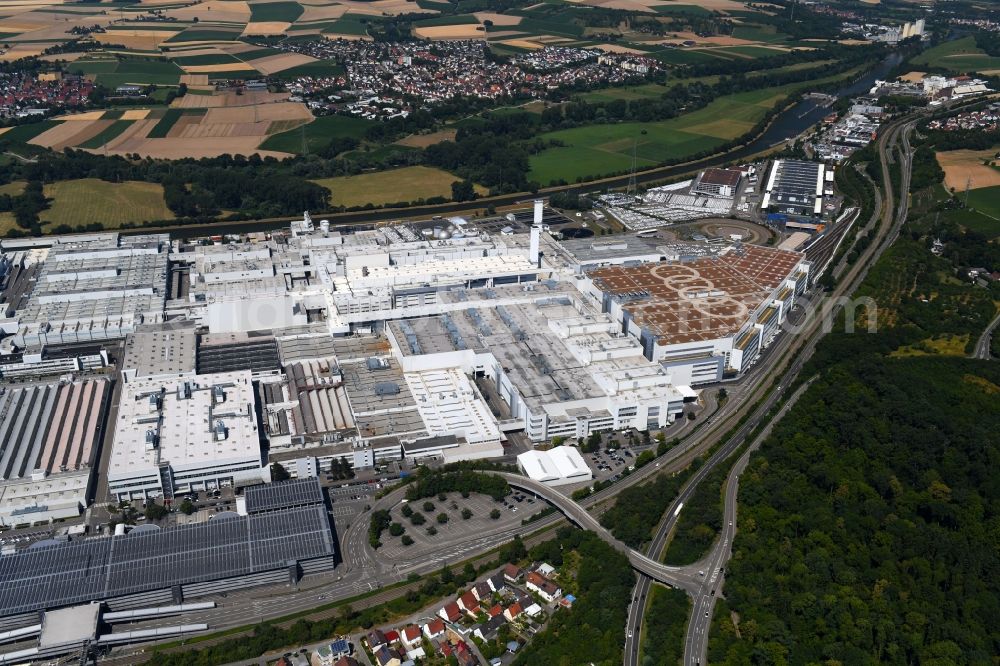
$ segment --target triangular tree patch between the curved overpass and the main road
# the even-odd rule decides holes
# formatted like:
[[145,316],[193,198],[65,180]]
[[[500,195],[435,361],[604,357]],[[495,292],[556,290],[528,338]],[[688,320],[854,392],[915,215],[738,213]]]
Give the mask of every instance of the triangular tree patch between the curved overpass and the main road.
[[618,494],[614,506],[601,516],[601,525],[629,547],[643,549],[681,486],[701,463],[698,458],[677,474],[661,474],[653,481],[626,488]]

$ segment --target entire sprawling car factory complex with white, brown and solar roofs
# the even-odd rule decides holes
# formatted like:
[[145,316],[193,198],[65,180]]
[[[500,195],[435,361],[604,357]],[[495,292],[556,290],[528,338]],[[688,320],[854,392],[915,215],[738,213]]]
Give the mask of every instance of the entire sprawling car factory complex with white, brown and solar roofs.
[[[547,443],[669,427],[700,385],[750,368],[810,282],[801,252],[567,239],[547,215],[4,241],[0,522],[83,520],[4,545],[0,631],[22,647],[5,662],[199,631],[103,633],[116,613],[331,575],[349,554],[330,469],[506,460],[579,487],[587,461]],[[108,503],[196,512],[130,527]],[[53,643],[57,609],[90,602],[103,619]]]

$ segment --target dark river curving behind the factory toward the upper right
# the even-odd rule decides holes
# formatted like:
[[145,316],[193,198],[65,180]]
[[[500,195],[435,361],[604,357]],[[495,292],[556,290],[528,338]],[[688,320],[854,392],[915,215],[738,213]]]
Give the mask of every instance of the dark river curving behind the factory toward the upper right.
[[[850,84],[828,94],[835,97],[854,97],[856,95],[863,94],[871,89],[876,80],[884,79],[889,71],[902,62],[902,60],[903,56],[901,54],[892,53],[878,65],[873,67],[867,74],[858,77]],[[776,144],[788,141],[789,139],[794,139],[822,120],[827,113],[829,113],[827,104],[823,104],[822,102],[814,99],[804,98],[784,111],[778,113],[764,133],[745,146],[729,151],[723,155],[708,157],[697,162],[688,162],[686,164],[673,167],[663,167],[637,173],[636,182],[649,183],[666,180],[708,167],[729,164],[750,155],[756,155],[768,150]],[[628,181],[628,176],[604,179],[600,182],[600,188],[615,189],[626,187],[628,185]],[[539,195],[544,196],[548,192],[554,191],[575,191],[583,193],[593,191],[594,189],[596,189],[594,184],[583,183],[570,187],[544,188],[539,191]],[[481,202],[451,203],[437,206],[413,206],[411,208],[377,209],[353,213],[313,213],[313,219],[319,220],[321,218],[329,218],[332,225],[342,230],[349,230],[356,225],[365,227],[374,222],[384,220],[400,220],[404,218],[427,219],[434,215],[472,213],[477,211],[477,209],[480,211],[483,210],[488,204],[495,207],[510,206],[530,198],[531,195],[521,192],[518,194],[491,197],[488,201]],[[145,227],[139,229],[123,229],[122,233],[136,234],[169,231],[171,237],[174,238],[192,238],[213,234],[237,234],[247,233],[250,231],[269,231],[287,226],[291,219],[292,218],[271,218],[266,220],[247,220],[231,223],[217,222],[212,224],[197,224],[185,227],[168,228]]]

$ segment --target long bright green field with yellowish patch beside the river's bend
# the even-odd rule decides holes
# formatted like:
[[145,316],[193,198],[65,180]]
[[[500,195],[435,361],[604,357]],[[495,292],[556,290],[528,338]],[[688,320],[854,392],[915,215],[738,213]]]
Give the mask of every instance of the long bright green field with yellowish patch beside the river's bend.
[[542,185],[626,171],[635,146],[638,167],[652,167],[711,150],[753,129],[769,110],[802,84],[726,95],[708,106],[653,123],[588,125],[543,134],[565,147],[531,157],[529,178]]

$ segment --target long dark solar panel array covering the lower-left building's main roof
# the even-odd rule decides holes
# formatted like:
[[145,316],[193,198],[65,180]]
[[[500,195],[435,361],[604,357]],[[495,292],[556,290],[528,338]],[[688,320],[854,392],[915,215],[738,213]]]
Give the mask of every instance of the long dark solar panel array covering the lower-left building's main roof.
[[29,548],[0,556],[0,617],[271,571],[334,553],[322,503]]

